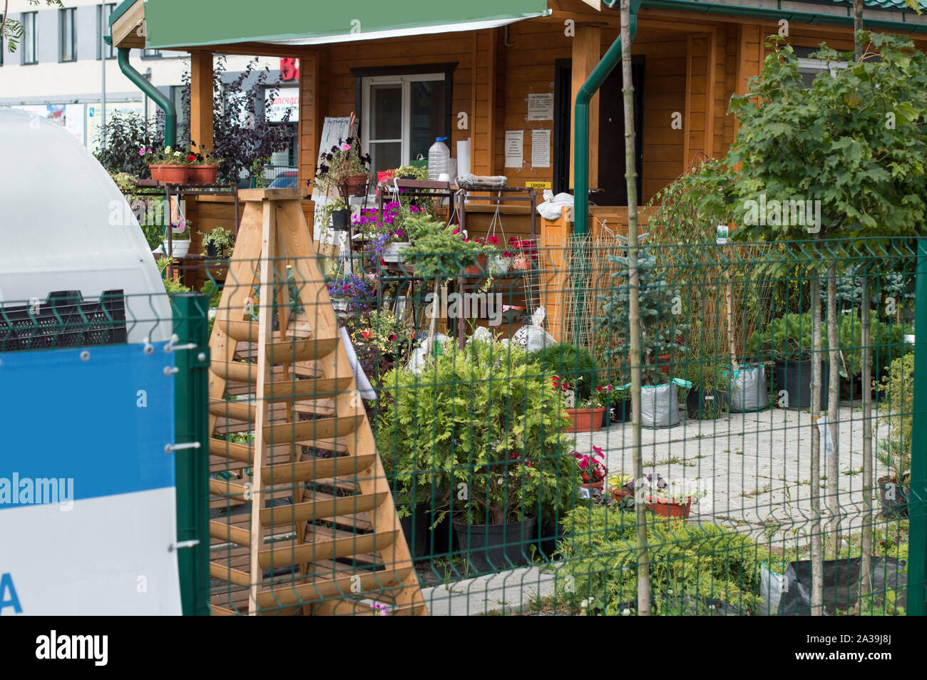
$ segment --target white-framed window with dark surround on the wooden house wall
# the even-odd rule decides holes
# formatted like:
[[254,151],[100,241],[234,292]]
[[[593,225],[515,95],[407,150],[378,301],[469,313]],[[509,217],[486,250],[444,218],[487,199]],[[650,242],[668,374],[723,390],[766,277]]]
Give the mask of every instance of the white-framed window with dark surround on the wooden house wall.
[[408,165],[445,136],[445,73],[361,79],[361,137],[375,171]]

